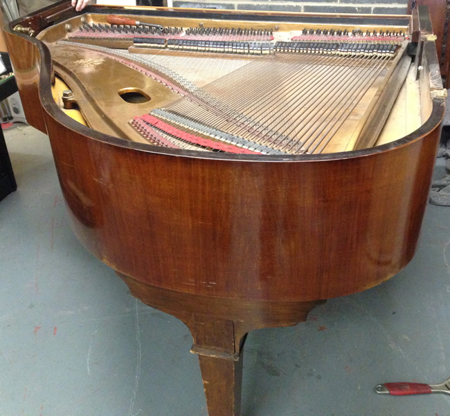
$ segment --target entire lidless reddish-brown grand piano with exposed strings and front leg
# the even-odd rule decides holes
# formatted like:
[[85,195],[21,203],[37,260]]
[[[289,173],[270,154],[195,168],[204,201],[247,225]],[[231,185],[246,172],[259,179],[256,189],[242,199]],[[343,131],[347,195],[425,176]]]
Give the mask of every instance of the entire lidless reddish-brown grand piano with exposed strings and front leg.
[[415,254],[444,115],[426,9],[331,15],[62,1],[6,39],[76,236],[186,323],[210,415],[255,329]]

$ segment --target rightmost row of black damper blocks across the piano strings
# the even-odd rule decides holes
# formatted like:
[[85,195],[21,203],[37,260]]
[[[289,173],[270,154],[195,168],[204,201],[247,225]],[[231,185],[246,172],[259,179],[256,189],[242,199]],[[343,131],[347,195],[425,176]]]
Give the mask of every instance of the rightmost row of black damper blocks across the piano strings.
[[320,53],[330,55],[387,55],[394,54],[396,44],[377,43],[327,43],[327,42],[276,42],[273,50],[278,53]]

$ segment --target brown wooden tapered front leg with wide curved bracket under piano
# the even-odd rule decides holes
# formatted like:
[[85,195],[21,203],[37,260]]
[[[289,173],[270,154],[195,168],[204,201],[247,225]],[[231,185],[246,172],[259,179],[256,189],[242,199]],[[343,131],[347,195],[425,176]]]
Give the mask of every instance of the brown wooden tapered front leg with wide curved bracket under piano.
[[132,295],[188,326],[199,355],[209,416],[239,416],[246,334],[296,325],[325,301],[260,302],[219,299],[156,287],[116,272]]

